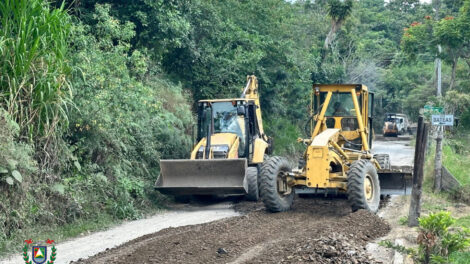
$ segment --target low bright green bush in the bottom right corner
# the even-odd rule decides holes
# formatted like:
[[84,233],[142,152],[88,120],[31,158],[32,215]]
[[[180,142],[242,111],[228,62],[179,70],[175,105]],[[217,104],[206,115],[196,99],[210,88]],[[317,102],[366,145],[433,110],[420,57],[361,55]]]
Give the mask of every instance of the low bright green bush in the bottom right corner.
[[449,212],[431,213],[419,218],[418,249],[382,241],[381,245],[410,255],[416,263],[449,263],[449,257],[470,246],[470,231],[450,229],[455,219]]

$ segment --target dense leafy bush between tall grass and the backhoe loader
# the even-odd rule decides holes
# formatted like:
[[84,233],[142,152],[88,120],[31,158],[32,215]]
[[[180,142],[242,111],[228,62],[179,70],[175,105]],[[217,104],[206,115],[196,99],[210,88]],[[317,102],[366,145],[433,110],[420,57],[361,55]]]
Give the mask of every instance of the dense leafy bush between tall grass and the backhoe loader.
[[109,12],[110,5],[96,5],[94,24],[73,28],[76,110],[67,141],[75,162],[62,184],[83,212],[101,206],[135,219],[158,203],[159,159],[189,153],[193,118],[181,86],[148,65],[145,50],[130,49],[134,25]]

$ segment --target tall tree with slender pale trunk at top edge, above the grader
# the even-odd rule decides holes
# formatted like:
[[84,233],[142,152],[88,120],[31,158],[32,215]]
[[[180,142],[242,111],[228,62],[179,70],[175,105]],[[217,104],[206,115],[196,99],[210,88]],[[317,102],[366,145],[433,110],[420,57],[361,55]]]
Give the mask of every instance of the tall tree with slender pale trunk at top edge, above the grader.
[[328,16],[331,17],[331,29],[325,38],[325,49],[328,49],[331,42],[335,39],[336,32],[352,12],[353,0],[329,0]]

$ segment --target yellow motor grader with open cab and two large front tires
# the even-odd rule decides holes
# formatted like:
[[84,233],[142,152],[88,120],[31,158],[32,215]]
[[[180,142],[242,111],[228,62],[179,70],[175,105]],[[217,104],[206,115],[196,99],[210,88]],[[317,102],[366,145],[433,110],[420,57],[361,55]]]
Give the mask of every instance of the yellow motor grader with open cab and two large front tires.
[[380,196],[406,194],[411,173],[393,171],[387,154],[373,155],[373,93],[361,84],[314,85],[309,138],[300,168],[282,157],[260,170],[260,195],[272,212],[286,211],[295,193],[344,192],[353,211],[376,212]]

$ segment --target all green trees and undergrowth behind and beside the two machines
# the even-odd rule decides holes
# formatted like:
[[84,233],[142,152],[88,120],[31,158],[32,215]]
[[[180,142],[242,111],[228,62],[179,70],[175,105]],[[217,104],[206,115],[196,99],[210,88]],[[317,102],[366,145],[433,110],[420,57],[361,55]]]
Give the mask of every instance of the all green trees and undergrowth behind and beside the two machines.
[[439,3],[3,1],[0,254],[36,226],[119,222],[164,206],[153,190],[159,159],[187,157],[194,102],[238,96],[248,74],[278,155],[304,149],[296,139],[312,83],[364,83],[377,120],[394,111],[415,120],[427,103],[459,116],[444,163],[468,182],[470,1]]

